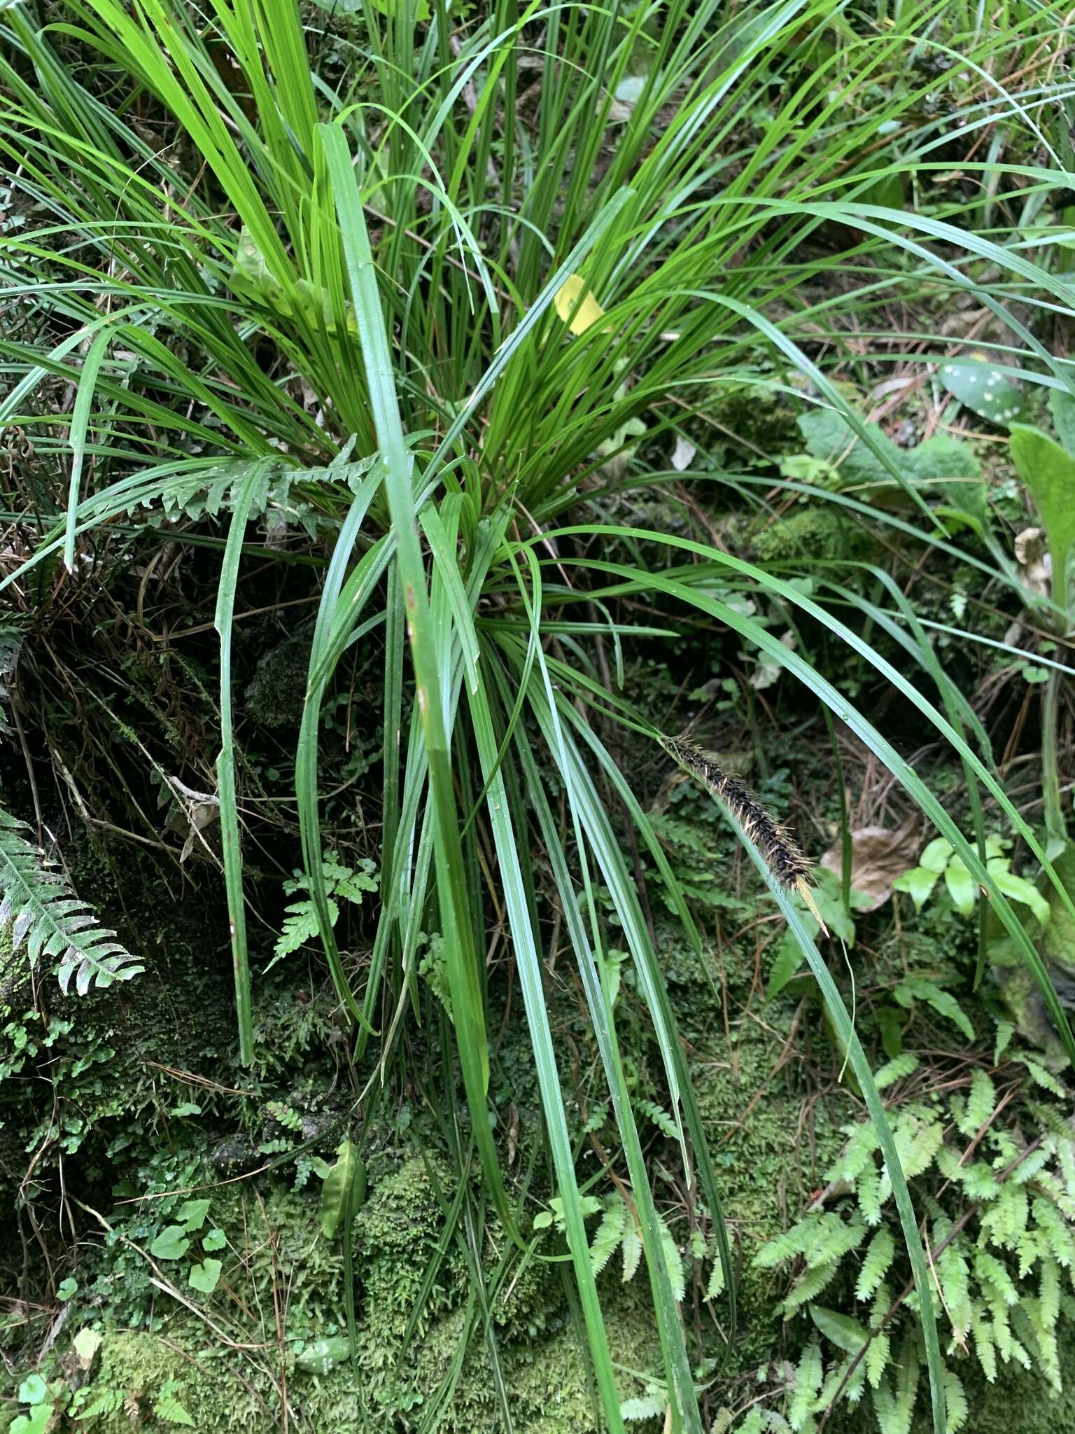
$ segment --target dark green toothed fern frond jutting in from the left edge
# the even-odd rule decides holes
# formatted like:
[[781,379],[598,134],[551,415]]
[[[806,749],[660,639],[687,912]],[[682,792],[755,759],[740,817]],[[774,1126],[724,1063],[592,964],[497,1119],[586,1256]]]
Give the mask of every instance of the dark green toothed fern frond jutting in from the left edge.
[[43,865],[42,853],[22,835],[26,829],[0,809],[0,926],[10,925],[11,949],[24,945],[32,968],[42,956],[59,958],[64,994],[72,975],[75,989],[86,995],[95,982],[108,987],[145,971],[115,931],[97,925],[63,876]]

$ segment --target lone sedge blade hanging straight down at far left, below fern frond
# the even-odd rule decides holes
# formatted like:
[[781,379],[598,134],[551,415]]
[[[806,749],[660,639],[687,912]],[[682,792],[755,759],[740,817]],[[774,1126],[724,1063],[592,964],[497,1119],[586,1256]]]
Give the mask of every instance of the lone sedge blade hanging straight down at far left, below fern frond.
[[239,842],[239,813],[235,804],[235,741],[231,707],[231,637],[235,611],[235,588],[239,578],[242,539],[258,486],[265,480],[275,459],[262,459],[251,466],[232,511],[228,543],[224,549],[221,576],[216,587],[214,627],[221,640],[221,753],[216,757],[216,796],[221,804],[221,852],[224,882],[228,892],[228,931],[231,934],[232,965],[235,968],[235,1014],[239,1025],[239,1060],[249,1065],[254,1060],[254,1018],[251,1015],[249,956],[247,952],[247,901],[242,893],[242,846]]

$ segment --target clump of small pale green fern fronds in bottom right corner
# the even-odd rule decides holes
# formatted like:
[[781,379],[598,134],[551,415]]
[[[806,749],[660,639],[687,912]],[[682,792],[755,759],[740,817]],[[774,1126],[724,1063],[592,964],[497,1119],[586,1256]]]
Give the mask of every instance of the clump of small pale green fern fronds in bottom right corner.
[[[1059,1087],[1055,1077],[1023,1053],[1012,1051],[1009,1060],[1008,1068],[1025,1067],[1028,1080],[1021,1104],[1005,1098],[1005,1121],[993,1077],[978,1070],[969,1090],[946,1103],[935,1097],[897,1106],[893,1134],[926,1216],[933,1304],[947,1325],[949,1355],[973,1358],[989,1384],[1005,1365],[1035,1372],[1056,1395],[1059,1321],[1075,1314],[1075,1301],[1062,1292],[1066,1282],[1075,1286],[1075,1129],[1069,1097],[1064,1104],[1039,1098]],[[899,1057],[887,1068],[892,1083],[912,1070]],[[1039,1134],[1028,1144],[1031,1121]],[[827,1172],[836,1209],[808,1212],[754,1258],[761,1269],[784,1266],[796,1276],[783,1314],[791,1331],[803,1328],[803,1342],[793,1385],[783,1381],[784,1412],[793,1434],[811,1434],[833,1400],[869,1397],[880,1434],[910,1434],[922,1365],[916,1296],[896,1295],[910,1271],[873,1127],[851,1126],[846,1134]],[[814,1304],[823,1289],[843,1291],[856,1314]],[[828,1299],[837,1304],[837,1296]],[[813,1329],[801,1314],[807,1305]],[[946,1381],[947,1434],[957,1434],[968,1401],[953,1372]],[[748,1427],[741,1423],[740,1434]],[[765,1424],[755,1420],[752,1427]]]

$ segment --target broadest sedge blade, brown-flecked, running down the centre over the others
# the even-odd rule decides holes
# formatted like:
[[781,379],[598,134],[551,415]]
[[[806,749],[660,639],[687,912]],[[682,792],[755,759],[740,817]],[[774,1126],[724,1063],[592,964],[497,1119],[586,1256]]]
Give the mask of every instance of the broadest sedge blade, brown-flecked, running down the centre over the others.
[[515,1219],[507,1203],[496,1146],[486,1116],[489,1044],[479,979],[479,955],[470,925],[466,873],[459,842],[456,794],[441,708],[440,674],[436,668],[429,591],[419,543],[411,479],[413,462],[403,437],[391,351],[377,290],[377,271],[370,252],[366,217],[347,141],[343,130],[331,125],[318,125],[318,133],[335,196],[370,403],[384,459],[388,512],[396,536],[396,561],[400,571],[414,665],[416,701],[426,741],[426,760],[429,761],[430,800],[434,813],[437,899],[463,1084],[470,1106],[482,1170],[500,1219],[515,1235]]

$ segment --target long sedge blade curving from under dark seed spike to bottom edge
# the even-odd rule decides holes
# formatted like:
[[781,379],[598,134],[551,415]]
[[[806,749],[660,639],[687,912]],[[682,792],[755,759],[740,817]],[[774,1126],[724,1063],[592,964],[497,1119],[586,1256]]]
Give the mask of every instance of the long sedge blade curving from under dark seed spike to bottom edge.
[[922,1248],[922,1236],[914,1217],[914,1206],[912,1205],[907,1180],[903,1174],[899,1150],[896,1149],[896,1141],[892,1136],[889,1117],[884,1113],[884,1104],[873,1080],[870,1063],[861,1048],[851,1017],[843,1002],[843,997],[830,975],[824,958],[806,929],[803,916],[791,901],[787,888],[775,879],[773,872],[765,865],[765,859],[761,852],[758,852],[757,846],[747,836],[745,830],[735,820],[732,813],[722,804],[721,810],[728,822],[735,827],[740,842],[750,852],[751,860],[758,869],[761,879],[773,893],[774,901],[780,906],[784,921],[788,923],[788,928],[798,944],[798,949],[810,964],[814,979],[821,988],[821,997],[826,1002],[826,1008],[833,1020],[833,1024],[836,1025],[840,1044],[847,1051],[851,1070],[854,1071],[859,1088],[863,1093],[866,1108],[870,1113],[870,1120],[873,1121],[873,1129],[877,1133],[882,1154],[884,1156],[884,1169],[889,1172],[889,1179],[892,1180],[892,1193],[900,1216],[900,1228],[903,1229],[903,1240],[907,1246],[907,1258],[910,1259],[910,1268],[914,1275],[914,1289],[919,1296],[919,1321],[922,1324],[922,1338],[926,1345],[926,1367],[929,1369],[929,1391],[933,1407],[933,1434],[945,1434],[945,1361],[940,1354],[940,1341],[937,1338],[937,1318],[933,1309],[933,1289],[930,1285],[929,1268],[926,1265],[926,1252]]

